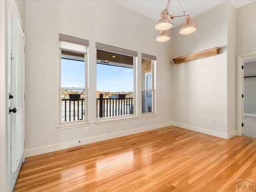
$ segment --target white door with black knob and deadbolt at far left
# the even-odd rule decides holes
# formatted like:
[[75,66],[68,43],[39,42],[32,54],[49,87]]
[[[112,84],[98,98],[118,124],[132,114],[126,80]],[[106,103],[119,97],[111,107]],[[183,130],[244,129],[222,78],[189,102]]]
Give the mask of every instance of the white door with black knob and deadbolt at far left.
[[12,13],[11,20],[9,128],[12,174],[17,172],[24,154],[24,34],[16,14]]

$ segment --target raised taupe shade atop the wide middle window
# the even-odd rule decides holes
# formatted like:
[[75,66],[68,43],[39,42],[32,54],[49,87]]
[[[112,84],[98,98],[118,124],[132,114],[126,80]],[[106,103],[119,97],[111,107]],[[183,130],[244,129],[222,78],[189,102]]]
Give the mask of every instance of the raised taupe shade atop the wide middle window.
[[131,51],[131,50],[114,47],[114,46],[110,46],[110,45],[105,45],[105,44],[101,44],[101,43],[96,43],[96,49],[102,50],[102,51],[108,51],[108,52],[112,52],[112,53],[118,53],[118,54],[122,54],[122,55],[127,55],[127,56],[133,56],[133,57],[138,56],[138,52],[136,52],[136,51]]

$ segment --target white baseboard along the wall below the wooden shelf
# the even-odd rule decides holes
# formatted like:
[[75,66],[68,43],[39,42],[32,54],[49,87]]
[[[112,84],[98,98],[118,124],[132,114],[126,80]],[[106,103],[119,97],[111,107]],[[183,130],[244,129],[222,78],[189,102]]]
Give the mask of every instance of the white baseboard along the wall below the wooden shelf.
[[177,123],[177,122],[172,122],[172,125],[180,127],[180,128],[184,128],[184,129],[188,129],[188,130],[192,130],[192,131],[196,131],[196,132],[200,132],[200,133],[204,133],[204,134],[224,138],[224,139],[230,139],[230,138],[236,136],[236,131],[233,131],[233,132],[230,132],[230,133],[226,134],[226,133],[223,133],[223,132],[218,132],[218,131],[214,131],[214,130],[210,130],[210,129],[200,128],[200,127],[191,126],[191,125],[182,124],[182,123]]

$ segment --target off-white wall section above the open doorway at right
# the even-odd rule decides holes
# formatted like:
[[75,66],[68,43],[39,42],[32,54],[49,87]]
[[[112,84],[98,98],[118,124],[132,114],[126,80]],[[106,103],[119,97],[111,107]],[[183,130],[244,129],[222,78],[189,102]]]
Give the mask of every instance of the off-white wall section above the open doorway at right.
[[236,54],[256,52],[256,1],[236,10]]

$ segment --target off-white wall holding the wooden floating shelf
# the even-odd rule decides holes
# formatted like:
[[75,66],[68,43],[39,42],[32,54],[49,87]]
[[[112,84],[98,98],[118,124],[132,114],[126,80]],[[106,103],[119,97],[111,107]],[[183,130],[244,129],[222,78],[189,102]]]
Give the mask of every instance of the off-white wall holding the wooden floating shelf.
[[[224,138],[236,134],[230,132],[234,128],[228,128],[228,122],[235,118],[234,114],[229,114],[234,108],[234,98],[228,103],[228,97],[235,92],[235,51],[227,47],[233,46],[235,36],[230,31],[235,24],[228,24],[232,16],[234,8],[226,1],[192,19],[198,28],[194,34],[180,35],[182,25],[173,29],[174,58],[217,46],[221,48],[216,56],[172,64],[173,121],[176,125]],[[232,35],[230,39],[228,34]],[[228,75],[230,69],[232,74]],[[232,87],[229,89],[229,86]]]

